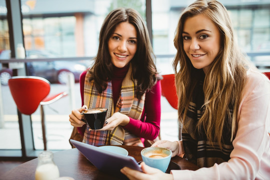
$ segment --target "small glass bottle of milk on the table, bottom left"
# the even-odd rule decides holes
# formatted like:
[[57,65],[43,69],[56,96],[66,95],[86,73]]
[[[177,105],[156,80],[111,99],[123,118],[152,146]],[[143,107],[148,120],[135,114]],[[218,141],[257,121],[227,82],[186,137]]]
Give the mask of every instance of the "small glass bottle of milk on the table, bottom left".
[[59,177],[58,167],[53,162],[53,153],[45,150],[38,154],[35,180],[50,180]]

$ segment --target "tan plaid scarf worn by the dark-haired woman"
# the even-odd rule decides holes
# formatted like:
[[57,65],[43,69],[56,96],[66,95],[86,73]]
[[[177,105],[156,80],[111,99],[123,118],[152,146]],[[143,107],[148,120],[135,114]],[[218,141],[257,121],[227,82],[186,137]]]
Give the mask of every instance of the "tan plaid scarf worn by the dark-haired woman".
[[[88,81],[90,73],[87,72],[84,81],[84,104],[86,104],[88,108],[108,108],[106,118],[110,117],[114,112],[120,112],[131,118],[140,119],[144,106],[145,93],[140,99],[135,97],[135,86],[131,79],[131,71],[132,68],[131,65],[129,65],[129,69],[122,82],[121,93],[117,100],[115,110],[113,107],[111,81],[108,81],[106,89],[99,93],[95,88],[93,80]],[[92,145],[124,144],[143,146],[139,137],[123,129],[121,126],[117,126],[113,130],[91,130],[89,126],[86,125],[83,142]]]

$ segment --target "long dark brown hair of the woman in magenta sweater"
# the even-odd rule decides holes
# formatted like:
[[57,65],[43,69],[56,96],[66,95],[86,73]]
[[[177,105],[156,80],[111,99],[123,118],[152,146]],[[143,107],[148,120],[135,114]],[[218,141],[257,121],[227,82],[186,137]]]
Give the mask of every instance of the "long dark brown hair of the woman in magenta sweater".
[[116,26],[121,22],[132,24],[137,31],[137,50],[130,63],[132,65],[131,79],[136,81],[136,95],[139,98],[151,89],[156,81],[156,66],[147,28],[139,13],[132,8],[116,8],[104,19],[99,32],[99,46],[91,69],[95,86],[101,93],[112,77],[112,62],[108,50],[108,40]]

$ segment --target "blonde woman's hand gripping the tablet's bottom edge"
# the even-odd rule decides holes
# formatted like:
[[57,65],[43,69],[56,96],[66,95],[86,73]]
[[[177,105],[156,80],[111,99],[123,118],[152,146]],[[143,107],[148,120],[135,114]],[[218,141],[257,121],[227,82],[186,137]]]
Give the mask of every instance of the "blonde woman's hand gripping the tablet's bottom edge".
[[129,179],[131,180],[138,180],[138,179],[142,179],[142,180],[147,180],[147,179],[173,179],[172,174],[168,174],[168,173],[164,173],[161,170],[157,169],[157,168],[153,168],[150,167],[148,165],[146,165],[144,162],[140,163],[141,165],[141,169],[142,172],[131,169],[129,167],[123,167],[121,169],[121,172],[126,175]]

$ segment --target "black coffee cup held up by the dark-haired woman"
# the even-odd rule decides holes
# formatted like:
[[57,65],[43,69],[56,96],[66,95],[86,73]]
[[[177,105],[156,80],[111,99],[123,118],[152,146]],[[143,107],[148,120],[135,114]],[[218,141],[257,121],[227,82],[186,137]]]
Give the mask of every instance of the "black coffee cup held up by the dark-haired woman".
[[107,108],[96,107],[81,112],[84,116],[81,120],[89,125],[91,129],[100,129],[104,125]]

